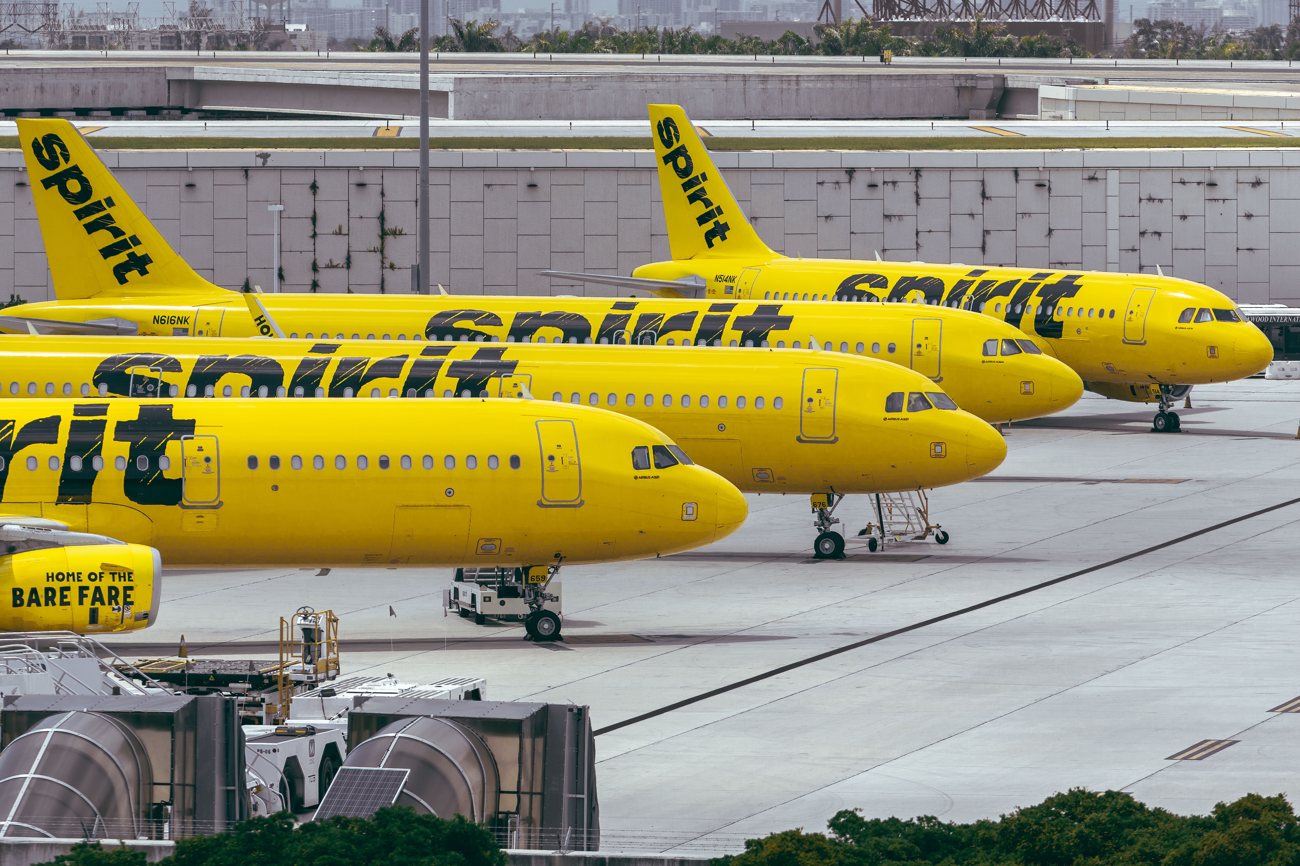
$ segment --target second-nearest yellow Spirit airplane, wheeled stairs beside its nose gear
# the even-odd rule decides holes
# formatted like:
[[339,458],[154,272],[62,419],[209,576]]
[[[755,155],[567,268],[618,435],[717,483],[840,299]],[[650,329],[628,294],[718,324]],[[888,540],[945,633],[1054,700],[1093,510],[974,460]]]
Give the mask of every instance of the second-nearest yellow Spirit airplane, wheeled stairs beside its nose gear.
[[[686,347],[8,336],[0,400],[517,397],[602,406],[663,431],[753,493],[828,496],[819,557],[844,552],[848,493],[956,484],[1006,456],[988,423],[919,373],[853,354]],[[653,452],[653,453],[651,453]],[[641,448],[638,469],[676,460]],[[942,535],[940,538],[945,538]]]

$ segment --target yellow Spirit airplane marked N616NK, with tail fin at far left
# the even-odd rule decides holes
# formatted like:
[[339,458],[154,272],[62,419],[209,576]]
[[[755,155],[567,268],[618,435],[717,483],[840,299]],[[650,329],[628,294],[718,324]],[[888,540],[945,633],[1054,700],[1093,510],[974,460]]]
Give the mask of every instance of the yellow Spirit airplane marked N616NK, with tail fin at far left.
[[20,119],[56,301],[6,310],[0,328],[42,334],[446,339],[805,348],[892,361],[989,422],[1060,412],[1079,377],[1035,340],[953,309],[768,299],[615,300],[387,295],[244,296],[199,277],[68,121]]

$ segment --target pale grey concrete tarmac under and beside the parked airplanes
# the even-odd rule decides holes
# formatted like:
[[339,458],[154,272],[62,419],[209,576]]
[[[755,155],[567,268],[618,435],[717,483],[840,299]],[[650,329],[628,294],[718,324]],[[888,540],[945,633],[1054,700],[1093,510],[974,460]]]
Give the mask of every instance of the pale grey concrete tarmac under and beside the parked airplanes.
[[933,491],[942,547],[816,561],[806,499],[750,497],[710,548],[567,566],[563,644],[443,615],[450,570],[347,569],[170,571],[159,625],[105,643],[266,657],[312,605],[341,617],[343,675],[589,704],[604,850],[736,852],[840,809],[996,818],[1072,787],[1204,814],[1300,788],[1297,397],[1196,387],[1156,435],[1150,406],[1086,393]]

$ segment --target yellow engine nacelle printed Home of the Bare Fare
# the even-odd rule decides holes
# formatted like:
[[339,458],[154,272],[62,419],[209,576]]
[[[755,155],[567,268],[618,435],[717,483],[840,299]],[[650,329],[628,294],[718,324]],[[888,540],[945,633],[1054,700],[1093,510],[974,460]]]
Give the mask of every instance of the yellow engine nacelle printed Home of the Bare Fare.
[[0,631],[148,628],[159,614],[162,558],[144,544],[23,551],[0,557]]

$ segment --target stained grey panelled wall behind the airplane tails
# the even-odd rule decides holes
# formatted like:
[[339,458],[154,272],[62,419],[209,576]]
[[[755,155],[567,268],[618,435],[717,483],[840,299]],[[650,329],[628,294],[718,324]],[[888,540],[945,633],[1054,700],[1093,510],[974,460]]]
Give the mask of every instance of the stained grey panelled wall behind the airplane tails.
[[[105,152],[170,243],[229,288],[407,292],[415,151]],[[790,256],[1164,273],[1300,300],[1300,149],[720,152]],[[455,293],[611,293],[538,270],[670,258],[649,152],[436,152],[432,278]],[[0,292],[52,299],[26,174],[0,155]],[[315,236],[313,236],[315,227]]]

